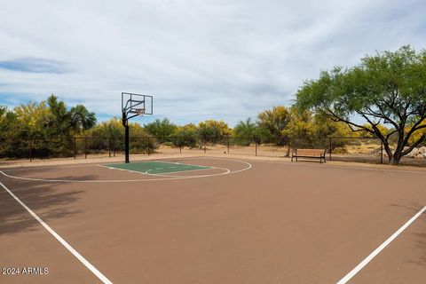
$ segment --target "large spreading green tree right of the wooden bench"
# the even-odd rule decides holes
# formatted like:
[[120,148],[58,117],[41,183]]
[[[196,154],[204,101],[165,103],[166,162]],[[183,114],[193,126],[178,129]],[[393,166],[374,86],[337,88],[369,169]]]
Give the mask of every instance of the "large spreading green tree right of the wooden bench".
[[[296,93],[296,106],[326,114],[345,122],[352,131],[374,134],[383,142],[389,162],[398,164],[426,138],[422,133],[408,144],[414,133],[426,128],[426,51],[403,46],[398,51],[366,56],[356,67],[322,71]],[[357,122],[359,117],[368,127]],[[392,130],[383,133],[382,124]],[[397,136],[392,151],[389,138]]]

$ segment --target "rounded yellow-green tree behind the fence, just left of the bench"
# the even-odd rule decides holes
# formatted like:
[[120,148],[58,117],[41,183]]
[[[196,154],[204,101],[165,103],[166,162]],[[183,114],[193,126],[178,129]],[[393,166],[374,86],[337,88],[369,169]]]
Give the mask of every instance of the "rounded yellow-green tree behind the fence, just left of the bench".
[[290,110],[286,106],[274,106],[272,109],[265,110],[257,114],[257,125],[277,138],[277,144],[282,146],[284,140],[281,139],[282,130],[287,128],[290,120]]

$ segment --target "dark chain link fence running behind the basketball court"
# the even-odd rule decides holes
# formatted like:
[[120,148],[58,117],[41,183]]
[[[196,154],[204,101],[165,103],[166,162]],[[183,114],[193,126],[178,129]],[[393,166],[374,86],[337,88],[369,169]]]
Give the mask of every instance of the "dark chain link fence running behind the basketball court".
[[[327,161],[387,163],[377,138],[287,137],[130,137],[130,154],[239,154],[291,157],[300,148],[325,149]],[[124,154],[122,137],[0,138],[3,159],[90,159]],[[402,164],[426,166],[426,143],[414,148]]]

